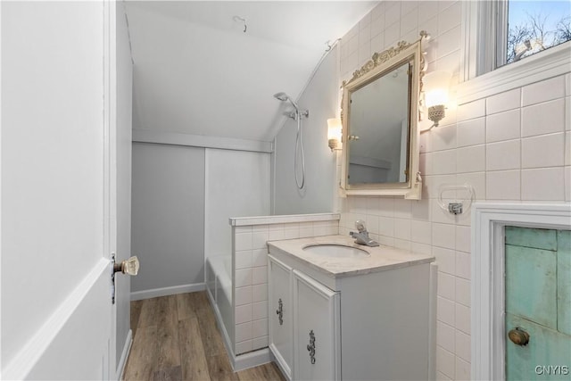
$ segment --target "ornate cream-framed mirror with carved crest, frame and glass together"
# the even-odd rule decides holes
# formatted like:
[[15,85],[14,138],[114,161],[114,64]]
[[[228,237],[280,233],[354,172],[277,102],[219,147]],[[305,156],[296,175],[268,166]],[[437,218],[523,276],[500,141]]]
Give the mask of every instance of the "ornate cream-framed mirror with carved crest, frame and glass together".
[[351,80],[343,81],[343,195],[420,199],[422,37],[373,54]]

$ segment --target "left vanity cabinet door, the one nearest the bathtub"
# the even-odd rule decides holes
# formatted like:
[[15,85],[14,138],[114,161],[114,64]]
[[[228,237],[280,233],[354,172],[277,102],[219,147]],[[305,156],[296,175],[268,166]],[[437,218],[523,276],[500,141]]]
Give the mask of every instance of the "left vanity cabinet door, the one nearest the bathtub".
[[271,255],[268,258],[269,349],[291,380],[294,357],[292,268]]

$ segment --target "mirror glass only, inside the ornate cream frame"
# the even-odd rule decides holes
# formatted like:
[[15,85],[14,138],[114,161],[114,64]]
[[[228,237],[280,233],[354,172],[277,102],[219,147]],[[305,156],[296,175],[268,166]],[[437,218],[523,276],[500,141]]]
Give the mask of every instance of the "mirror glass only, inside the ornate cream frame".
[[410,62],[350,94],[349,184],[406,183]]

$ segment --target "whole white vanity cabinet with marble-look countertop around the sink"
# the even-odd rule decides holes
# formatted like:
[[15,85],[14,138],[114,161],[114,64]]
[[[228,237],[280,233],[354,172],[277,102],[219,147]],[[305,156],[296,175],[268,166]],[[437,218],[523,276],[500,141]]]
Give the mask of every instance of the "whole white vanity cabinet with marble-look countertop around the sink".
[[[269,243],[269,348],[285,376],[434,379],[434,257],[380,247],[370,258],[337,261],[297,250],[296,241]],[[279,298],[284,319],[294,319],[289,340],[277,320]]]

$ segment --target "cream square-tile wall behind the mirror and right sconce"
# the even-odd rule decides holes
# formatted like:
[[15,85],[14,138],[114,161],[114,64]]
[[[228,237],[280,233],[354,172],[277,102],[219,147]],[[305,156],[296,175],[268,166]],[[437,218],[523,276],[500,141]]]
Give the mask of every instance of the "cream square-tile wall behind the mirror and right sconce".
[[[351,79],[370,55],[400,40],[413,42],[418,31],[426,29],[433,37],[426,45],[428,71],[449,70],[458,81],[461,6],[461,1],[377,5],[342,39],[341,80]],[[367,32],[362,32],[366,25]],[[370,44],[360,40],[367,33]],[[370,53],[363,57],[364,48],[351,46],[369,46]],[[469,211],[454,216],[441,209],[439,188],[470,184],[478,201],[571,201],[571,74],[468,104],[451,104],[441,126],[420,137],[423,199],[339,198],[339,232],[347,234],[355,219],[364,219],[381,244],[434,255],[439,265],[437,378],[466,380],[470,379],[471,221]],[[339,174],[341,160],[337,166]],[[447,198],[454,195],[446,194],[444,201]]]

